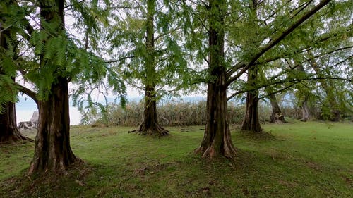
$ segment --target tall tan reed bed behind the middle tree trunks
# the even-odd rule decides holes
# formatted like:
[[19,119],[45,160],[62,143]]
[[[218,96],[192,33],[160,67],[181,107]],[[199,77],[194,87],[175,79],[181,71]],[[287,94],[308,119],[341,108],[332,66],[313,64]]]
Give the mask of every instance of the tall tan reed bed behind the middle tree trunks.
[[[158,122],[161,125],[205,125],[206,101],[162,101],[157,106]],[[260,119],[262,122],[270,118],[270,106],[259,104]],[[245,114],[244,104],[229,101],[229,124],[241,124]],[[123,108],[119,104],[109,104],[97,116],[90,116],[89,124],[138,126],[143,116],[143,101],[132,101]]]

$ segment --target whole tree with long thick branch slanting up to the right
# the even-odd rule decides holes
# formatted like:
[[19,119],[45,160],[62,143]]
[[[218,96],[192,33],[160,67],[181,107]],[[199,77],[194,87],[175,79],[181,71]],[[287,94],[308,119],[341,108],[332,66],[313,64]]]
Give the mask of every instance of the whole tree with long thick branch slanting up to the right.
[[[227,121],[227,87],[232,84],[235,80],[239,79],[246,71],[249,72],[250,68],[258,67],[258,62],[261,61],[261,57],[266,52],[270,51],[274,47],[278,47],[278,44],[287,37],[291,32],[297,29],[299,25],[304,23],[308,18],[313,16],[316,12],[321,10],[323,6],[328,4],[330,1],[321,1],[316,6],[313,6],[309,9],[300,9],[294,16],[293,23],[289,25],[276,24],[278,22],[277,17],[272,14],[269,14],[269,18],[273,18],[273,24],[277,30],[275,34],[273,33],[273,28],[268,26],[266,23],[264,30],[264,35],[258,37],[261,42],[258,42],[260,46],[258,48],[251,48],[249,50],[243,51],[243,49],[237,44],[234,44],[237,47],[237,51],[234,54],[238,56],[237,63],[225,63],[225,30],[228,29],[225,26],[225,16],[227,13],[227,24],[239,24],[237,20],[242,17],[241,11],[236,10],[239,8],[239,4],[234,3],[234,5],[227,5],[227,1],[208,1],[208,4],[204,2],[199,2],[198,6],[203,5],[208,13],[207,21],[208,27],[206,30],[208,32],[208,72],[210,78],[208,79],[208,97],[207,97],[207,111],[208,111],[208,120],[205,128],[205,134],[201,146],[196,149],[196,153],[201,154],[203,157],[213,158],[215,156],[226,156],[232,158],[236,151],[231,141],[229,125]],[[191,1],[190,4],[193,4]],[[237,4],[237,6],[235,6]],[[277,5],[278,6],[278,5]],[[229,11],[228,8],[234,8],[234,10]],[[278,7],[282,8],[281,6]],[[277,8],[276,8],[277,9]],[[305,10],[305,13],[303,12]],[[232,14],[236,15],[234,18],[230,18]],[[304,13],[304,14],[301,14]],[[287,13],[285,13],[287,14]],[[281,16],[283,17],[283,16]],[[201,20],[198,16],[195,16],[196,20]],[[267,16],[265,16],[267,18]],[[234,21],[232,21],[232,19]],[[278,26],[277,26],[278,25]],[[205,27],[205,25],[203,25]],[[232,31],[229,31],[229,36],[232,37],[239,36],[241,29],[234,27],[234,34]],[[244,30],[247,33],[247,30]],[[246,34],[244,33],[244,34]],[[243,35],[246,39],[246,36]],[[236,40],[236,39],[234,39]],[[263,44],[263,41],[268,40]],[[240,50],[239,50],[240,49]],[[239,54],[242,54],[239,56]],[[239,60],[240,59],[240,60]],[[256,69],[253,69],[256,70]]]

